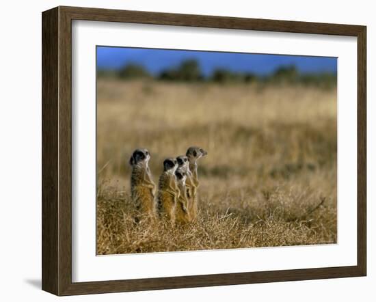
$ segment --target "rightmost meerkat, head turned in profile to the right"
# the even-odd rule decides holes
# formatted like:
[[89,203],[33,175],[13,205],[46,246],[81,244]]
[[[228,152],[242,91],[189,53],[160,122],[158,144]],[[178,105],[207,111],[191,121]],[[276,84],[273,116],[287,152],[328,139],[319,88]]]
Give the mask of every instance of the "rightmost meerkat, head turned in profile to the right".
[[189,170],[192,173],[192,182],[195,186],[195,193],[192,194],[190,200],[189,200],[189,215],[191,216],[191,219],[197,218],[197,212],[198,212],[198,197],[197,197],[197,189],[200,185],[200,182],[198,181],[198,165],[197,161],[202,156],[206,156],[208,152],[206,152],[202,148],[198,147],[189,147],[187,150],[187,159],[189,162]]

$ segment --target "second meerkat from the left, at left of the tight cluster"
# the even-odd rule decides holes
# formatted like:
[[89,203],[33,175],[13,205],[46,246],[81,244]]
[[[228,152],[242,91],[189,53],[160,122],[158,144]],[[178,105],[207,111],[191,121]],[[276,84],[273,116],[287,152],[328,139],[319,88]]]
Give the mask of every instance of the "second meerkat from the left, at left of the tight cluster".
[[159,216],[163,217],[172,224],[175,223],[175,207],[180,191],[175,176],[175,171],[178,168],[176,159],[165,159],[163,161],[163,173],[159,177],[158,182],[158,212]]

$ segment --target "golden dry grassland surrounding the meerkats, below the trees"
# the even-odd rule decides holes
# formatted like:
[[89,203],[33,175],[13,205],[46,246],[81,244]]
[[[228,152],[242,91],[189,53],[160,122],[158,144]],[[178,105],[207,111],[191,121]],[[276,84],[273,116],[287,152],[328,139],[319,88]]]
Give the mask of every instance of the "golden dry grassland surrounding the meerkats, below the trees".
[[[336,243],[336,90],[99,79],[97,253]],[[200,146],[200,217],[134,223],[135,148]]]

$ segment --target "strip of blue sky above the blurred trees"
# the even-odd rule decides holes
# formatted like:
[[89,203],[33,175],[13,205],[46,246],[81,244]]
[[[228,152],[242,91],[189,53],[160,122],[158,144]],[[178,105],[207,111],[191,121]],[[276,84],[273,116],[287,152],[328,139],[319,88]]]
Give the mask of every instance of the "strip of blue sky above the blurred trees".
[[152,74],[158,74],[165,68],[178,66],[184,59],[197,59],[205,76],[211,74],[215,68],[267,75],[280,66],[289,65],[295,65],[301,73],[337,71],[335,57],[97,46],[97,66],[100,69],[118,69],[126,64],[136,63],[143,65]]

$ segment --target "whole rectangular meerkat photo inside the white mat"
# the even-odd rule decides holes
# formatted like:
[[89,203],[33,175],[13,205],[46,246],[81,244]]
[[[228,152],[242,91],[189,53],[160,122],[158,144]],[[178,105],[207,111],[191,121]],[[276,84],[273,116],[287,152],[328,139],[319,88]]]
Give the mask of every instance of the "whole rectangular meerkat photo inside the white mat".
[[337,241],[337,59],[96,47],[96,253]]

